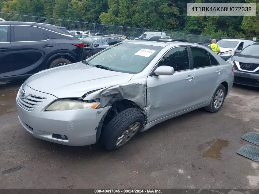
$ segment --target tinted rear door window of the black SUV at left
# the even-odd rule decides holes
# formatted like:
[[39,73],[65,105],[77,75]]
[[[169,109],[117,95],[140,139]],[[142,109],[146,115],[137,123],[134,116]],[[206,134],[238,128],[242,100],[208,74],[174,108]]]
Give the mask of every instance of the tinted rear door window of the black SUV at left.
[[44,40],[44,33],[38,27],[13,26],[13,33],[14,42]]

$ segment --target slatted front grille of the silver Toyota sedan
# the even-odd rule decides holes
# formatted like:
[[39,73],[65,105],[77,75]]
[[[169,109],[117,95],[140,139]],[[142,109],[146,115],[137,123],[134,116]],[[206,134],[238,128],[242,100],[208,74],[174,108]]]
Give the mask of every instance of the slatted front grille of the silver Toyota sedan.
[[28,111],[32,111],[34,108],[36,108],[38,105],[40,105],[44,100],[47,98],[29,95],[26,98],[21,98],[20,94],[18,94],[17,102],[21,107]]

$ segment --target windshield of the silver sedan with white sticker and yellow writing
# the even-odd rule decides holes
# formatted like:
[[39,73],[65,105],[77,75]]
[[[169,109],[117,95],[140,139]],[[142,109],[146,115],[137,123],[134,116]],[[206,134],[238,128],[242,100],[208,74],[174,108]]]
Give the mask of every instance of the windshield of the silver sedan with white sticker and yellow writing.
[[115,71],[136,74],[143,71],[163,47],[120,43],[87,60],[89,65],[102,65]]

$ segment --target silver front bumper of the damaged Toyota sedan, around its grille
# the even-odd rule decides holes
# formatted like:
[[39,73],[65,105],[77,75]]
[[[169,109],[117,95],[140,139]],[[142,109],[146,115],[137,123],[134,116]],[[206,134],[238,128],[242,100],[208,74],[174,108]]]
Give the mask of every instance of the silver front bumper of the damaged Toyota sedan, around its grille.
[[[96,143],[97,126],[110,107],[92,109],[83,108],[70,111],[44,111],[57,97],[42,93],[23,85],[24,98],[18,92],[16,108],[21,125],[34,137],[68,146],[85,146]],[[29,95],[46,98],[33,110],[24,108],[21,99]],[[55,135],[66,135],[67,140],[57,139]]]

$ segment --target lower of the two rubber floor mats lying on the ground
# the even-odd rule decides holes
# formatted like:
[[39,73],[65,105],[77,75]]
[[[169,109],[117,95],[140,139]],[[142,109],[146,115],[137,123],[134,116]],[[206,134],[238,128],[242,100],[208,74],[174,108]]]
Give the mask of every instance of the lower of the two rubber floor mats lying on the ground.
[[237,150],[237,153],[255,162],[259,162],[259,148],[255,146],[251,146],[248,144],[244,145],[239,150]]

